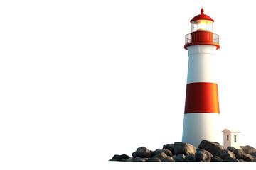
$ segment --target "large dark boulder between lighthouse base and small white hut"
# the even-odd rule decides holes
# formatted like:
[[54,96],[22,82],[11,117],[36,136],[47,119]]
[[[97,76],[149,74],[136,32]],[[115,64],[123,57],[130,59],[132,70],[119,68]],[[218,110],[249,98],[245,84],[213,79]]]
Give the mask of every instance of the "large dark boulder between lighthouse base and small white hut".
[[220,156],[220,152],[223,151],[223,147],[219,143],[208,140],[202,140],[198,148],[207,150],[213,156]]

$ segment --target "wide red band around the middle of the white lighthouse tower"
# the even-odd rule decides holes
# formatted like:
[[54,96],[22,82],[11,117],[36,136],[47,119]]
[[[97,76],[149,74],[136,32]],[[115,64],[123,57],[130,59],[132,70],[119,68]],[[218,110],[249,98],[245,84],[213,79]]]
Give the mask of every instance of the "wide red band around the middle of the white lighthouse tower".
[[218,85],[214,83],[187,84],[186,113],[220,113]]

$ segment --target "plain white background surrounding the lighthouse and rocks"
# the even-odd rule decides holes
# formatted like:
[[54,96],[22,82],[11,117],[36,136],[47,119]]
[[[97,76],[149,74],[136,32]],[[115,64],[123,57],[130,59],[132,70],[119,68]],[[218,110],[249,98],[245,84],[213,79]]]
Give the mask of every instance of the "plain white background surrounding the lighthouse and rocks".
[[1,169],[209,168],[107,161],[181,141],[184,36],[202,4],[220,35],[220,130],[256,147],[254,1],[10,0],[0,3]]

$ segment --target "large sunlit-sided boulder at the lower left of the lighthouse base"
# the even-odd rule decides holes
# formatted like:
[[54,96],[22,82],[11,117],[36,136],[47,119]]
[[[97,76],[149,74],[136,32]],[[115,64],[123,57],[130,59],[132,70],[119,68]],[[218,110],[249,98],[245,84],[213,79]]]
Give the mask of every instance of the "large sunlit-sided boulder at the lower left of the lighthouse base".
[[183,143],[183,142],[175,142],[174,143],[174,154],[195,154],[196,153],[196,147],[194,147],[191,144]]

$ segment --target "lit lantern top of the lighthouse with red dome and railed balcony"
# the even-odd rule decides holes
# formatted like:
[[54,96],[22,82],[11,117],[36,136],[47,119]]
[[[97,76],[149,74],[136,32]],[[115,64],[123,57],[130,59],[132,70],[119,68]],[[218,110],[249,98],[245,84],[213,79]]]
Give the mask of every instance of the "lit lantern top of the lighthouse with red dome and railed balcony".
[[220,48],[219,36],[213,33],[213,22],[214,20],[210,16],[203,13],[195,16],[191,19],[191,33],[186,35],[186,44],[184,48],[191,45],[215,45],[216,49]]

